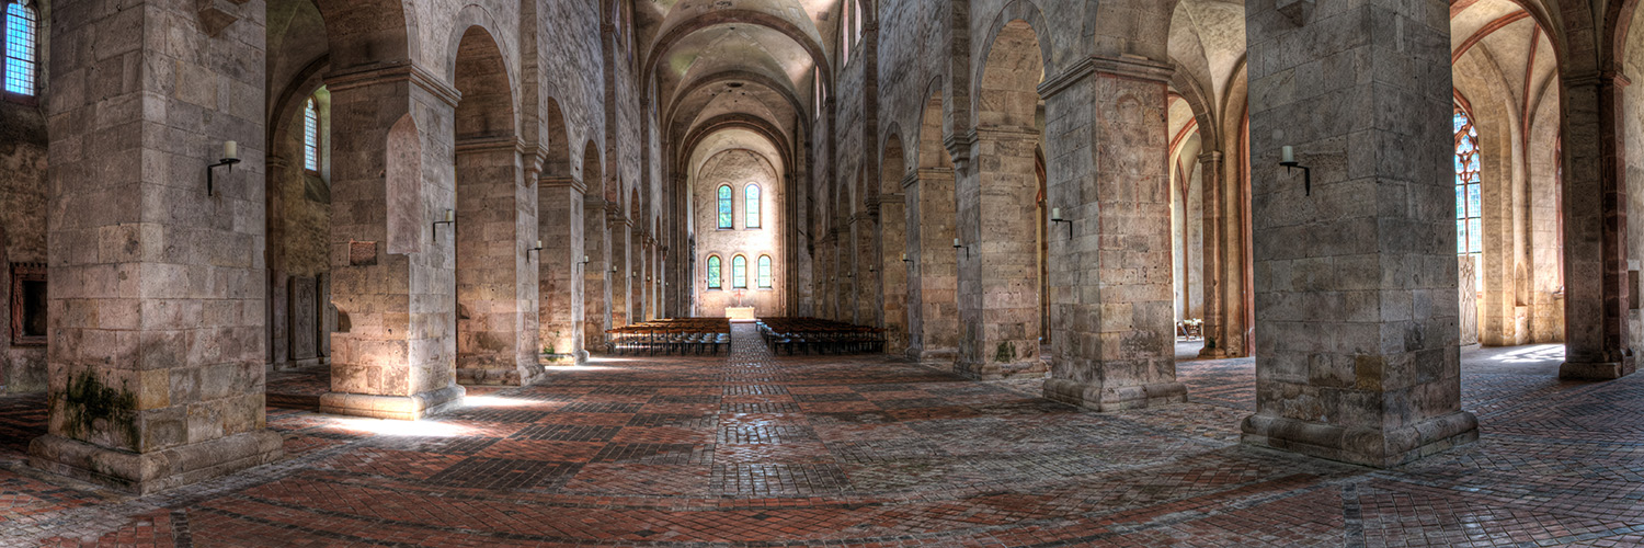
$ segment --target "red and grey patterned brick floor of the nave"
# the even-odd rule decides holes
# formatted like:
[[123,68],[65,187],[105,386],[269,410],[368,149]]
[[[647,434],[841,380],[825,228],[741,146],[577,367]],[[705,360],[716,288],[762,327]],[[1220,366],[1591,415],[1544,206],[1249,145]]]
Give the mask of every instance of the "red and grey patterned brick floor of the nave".
[[1238,446],[1248,359],[1182,362],[1192,403],[1098,415],[1042,380],[776,359],[746,327],[727,357],[559,367],[419,423],[271,406],[286,461],[145,499],[21,467],[44,398],[5,397],[0,545],[1644,545],[1644,377],[1468,355],[1480,443],[1392,471]]

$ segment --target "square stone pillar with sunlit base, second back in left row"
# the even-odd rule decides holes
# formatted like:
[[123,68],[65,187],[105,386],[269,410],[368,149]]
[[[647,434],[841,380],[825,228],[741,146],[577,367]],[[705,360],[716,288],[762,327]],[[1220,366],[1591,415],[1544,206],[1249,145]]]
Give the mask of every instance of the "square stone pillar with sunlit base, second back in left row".
[[416,420],[460,405],[450,127],[460,94],[414,64],[327,76],[332,92],[330,393],[321,410]]

